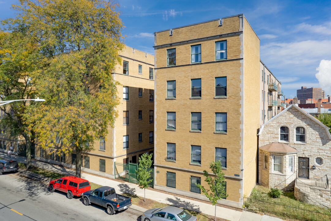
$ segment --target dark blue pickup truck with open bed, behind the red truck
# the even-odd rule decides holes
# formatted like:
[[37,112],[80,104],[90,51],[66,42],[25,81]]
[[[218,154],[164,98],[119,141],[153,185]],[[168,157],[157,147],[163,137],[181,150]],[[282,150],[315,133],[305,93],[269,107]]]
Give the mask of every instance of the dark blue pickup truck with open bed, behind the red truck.
[[82,195],[84,205],[91,203],[107,208],[107,213],[112,215],[115,211],[121,211],[131,206],[131,197],[119,195],[115,189],[109,186],[102,186],[97,189],[86,191]]

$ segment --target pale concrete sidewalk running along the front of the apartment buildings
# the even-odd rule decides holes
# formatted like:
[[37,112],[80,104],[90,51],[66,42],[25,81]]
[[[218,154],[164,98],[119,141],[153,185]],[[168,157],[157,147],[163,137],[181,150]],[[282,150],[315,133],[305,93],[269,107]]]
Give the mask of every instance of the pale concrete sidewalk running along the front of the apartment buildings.
[[[0,152],[0,157],[9,158],[9,155],[6,153]],[[15,159],[18,162],[22,162],[22,163],[26,162],[25,157],[19,157],[19,156],[12,155],[11,158]],[[36,167],[44,168],[49,171],[61,173],[64,175],[73,175],[73,176],[75,175],[75,171],[73,171],[71,169],[60,167],[60,166],[57,166],[54,164],[49,164],[49,163],[46,163],[43,161],[32,160],[32,165],[36,166]],[[140,197],[144,197],[144,190],[140,189],[137,184],[127,183],[127,182],[121,183],[121,182],[117,182],[117,181],[110,180],[107,178],[98,177],[98,176],[94,176],[91,174],[86,174],[83,172],[81,173],[81,177],[83,179],[86,179],[95,184],[114,187],[118,193],[127,192],[127,193],[131,193],[131,194],[135,194]],[[199,202],[199,201],[195,201],[195,200],[191,200],[191,199],[186,199],[183,197],[173,196],[170,194],[157,192],[157,191],[154,191],[151,189],[146,189],[146,198],[153,199],[155,201],[166,203],[169,205],[174,205],[174,206],[198,211],[198,212],[205,213],[205,214],[211,215],[211,216],[215,215],[214,214],[215,207],[208,203],[203,203],[203,202]],[[133,209],[136,209],[138,211],[143,210],[143,209],[141,209],[141,207],[140,208],[133,207]],[[141,211],[141,212],[143,212],[143,211]],[[254,212],[250,212],[248,210],[243,210],[242,212],[240,212],[240,211],[236,211],[236,210],[232,210],[232,209],[228,209],[228,208],[224,208],[224,207],[220,207],[220,206],[217,206],[217,208],[216,208],[216,216],[223,218],[223,219],[231,220],[231,221],[266,221],[266,220],[282,221],[282,219],[279,219],[276,217],[272,217],[272,216],[268,216],[268,215],[260,215],[260,214],[254,213]]]

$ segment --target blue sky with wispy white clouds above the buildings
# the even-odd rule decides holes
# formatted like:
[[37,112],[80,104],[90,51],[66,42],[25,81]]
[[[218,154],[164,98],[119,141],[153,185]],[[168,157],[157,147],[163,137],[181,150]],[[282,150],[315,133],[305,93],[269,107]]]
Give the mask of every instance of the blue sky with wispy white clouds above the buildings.
[[[0,19],[15,16],[0,0]],[[301,86],[331,95],[331,1],[118,0],[128,46],[154,54],[154,32],[244,14],[260,38],[260,59],[287,98]]]

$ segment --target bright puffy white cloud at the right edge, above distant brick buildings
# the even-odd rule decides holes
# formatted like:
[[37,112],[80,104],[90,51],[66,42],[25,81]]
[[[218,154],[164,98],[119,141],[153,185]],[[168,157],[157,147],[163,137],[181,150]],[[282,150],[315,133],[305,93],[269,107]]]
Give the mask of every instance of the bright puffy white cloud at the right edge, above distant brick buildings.
[[321,60],[316,70],[318,73],[315,77],[320,87],[325,91],[325,95],[331,95],[331,60]]

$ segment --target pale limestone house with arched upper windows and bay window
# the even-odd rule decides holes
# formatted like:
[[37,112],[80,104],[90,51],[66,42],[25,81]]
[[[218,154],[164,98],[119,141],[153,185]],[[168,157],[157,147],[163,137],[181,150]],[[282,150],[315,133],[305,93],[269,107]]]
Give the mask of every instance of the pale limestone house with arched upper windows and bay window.
[[259,184],[295,190],[301,201],[330,206],[331,134],[295,104],[259,131]]

